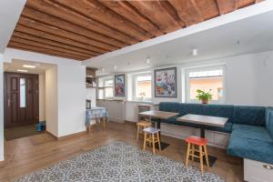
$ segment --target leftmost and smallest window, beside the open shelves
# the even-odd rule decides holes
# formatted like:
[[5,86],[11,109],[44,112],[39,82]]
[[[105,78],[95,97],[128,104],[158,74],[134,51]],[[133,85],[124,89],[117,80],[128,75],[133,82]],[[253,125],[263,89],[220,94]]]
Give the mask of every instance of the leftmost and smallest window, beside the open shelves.
[[113,98],[114,97],[114,79],[100,78],[98,80],[98,99]]

